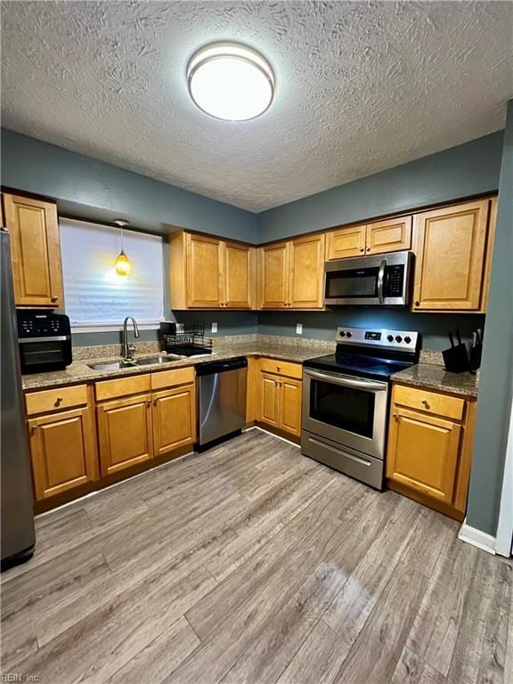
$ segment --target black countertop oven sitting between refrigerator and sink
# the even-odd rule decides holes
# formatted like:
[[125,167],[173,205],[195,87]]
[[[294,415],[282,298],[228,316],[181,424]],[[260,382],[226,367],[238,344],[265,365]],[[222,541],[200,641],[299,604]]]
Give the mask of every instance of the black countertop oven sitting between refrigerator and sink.
[[62,371],[72,361],[69,318],[38,309],[17,309],[22,373]]

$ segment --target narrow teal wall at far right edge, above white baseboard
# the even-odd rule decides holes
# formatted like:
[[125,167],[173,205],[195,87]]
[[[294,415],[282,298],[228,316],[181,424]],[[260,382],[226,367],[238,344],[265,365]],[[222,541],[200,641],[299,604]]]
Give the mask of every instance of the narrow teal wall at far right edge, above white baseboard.
[[498,209],[467,511],[468,525],[493,535],[513,388],[513,100],[504,136]]

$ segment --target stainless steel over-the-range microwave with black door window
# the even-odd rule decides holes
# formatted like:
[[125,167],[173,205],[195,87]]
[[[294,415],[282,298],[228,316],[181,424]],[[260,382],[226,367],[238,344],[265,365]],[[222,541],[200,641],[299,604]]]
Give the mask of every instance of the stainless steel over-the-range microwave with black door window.
[[328,261],[324,266],[324,304],[409,304],[411,252]]

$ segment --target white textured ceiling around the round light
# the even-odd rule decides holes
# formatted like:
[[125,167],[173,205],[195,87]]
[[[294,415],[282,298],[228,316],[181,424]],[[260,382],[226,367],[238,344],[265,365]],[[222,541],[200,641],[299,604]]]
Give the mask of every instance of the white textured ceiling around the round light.
[[[510,2],[2,2],[3,126],[261,211],[498,130]],[[191,54],[273,64],[262,118],[191,102]]]

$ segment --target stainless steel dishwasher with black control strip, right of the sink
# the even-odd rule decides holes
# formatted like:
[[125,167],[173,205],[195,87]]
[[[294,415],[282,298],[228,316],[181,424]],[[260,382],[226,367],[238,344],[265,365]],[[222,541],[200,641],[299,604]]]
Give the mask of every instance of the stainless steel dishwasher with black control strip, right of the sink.
[[198,363],[199,451],[240,433],[246,423],[248,359]]

